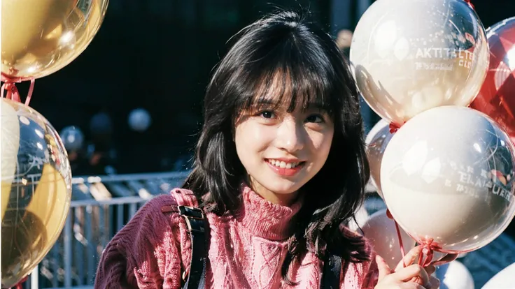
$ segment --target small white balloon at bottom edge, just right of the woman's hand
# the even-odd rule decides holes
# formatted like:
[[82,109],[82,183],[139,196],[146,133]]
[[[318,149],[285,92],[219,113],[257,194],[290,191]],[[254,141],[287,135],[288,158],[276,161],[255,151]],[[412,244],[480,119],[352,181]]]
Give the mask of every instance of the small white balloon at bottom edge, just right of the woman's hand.
[[469,269],[459,261],[453,261],[437,268],[439,289],[474,289],[474,279]]

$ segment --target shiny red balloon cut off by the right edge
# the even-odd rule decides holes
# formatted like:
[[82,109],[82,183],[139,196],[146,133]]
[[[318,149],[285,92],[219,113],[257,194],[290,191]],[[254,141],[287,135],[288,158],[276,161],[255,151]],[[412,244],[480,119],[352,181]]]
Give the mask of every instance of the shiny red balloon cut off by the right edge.
[[493,25],[486,36],[490,67],[470,107],[486,113],[515,138],[515,17]]

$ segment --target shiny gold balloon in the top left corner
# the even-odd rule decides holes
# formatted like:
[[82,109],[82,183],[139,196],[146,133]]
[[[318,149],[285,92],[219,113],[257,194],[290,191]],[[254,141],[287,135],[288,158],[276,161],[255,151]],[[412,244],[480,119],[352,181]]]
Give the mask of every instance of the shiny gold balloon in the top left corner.
[[39,78],[68,65],[90,44],[108,0],[2,0],[1,72]]

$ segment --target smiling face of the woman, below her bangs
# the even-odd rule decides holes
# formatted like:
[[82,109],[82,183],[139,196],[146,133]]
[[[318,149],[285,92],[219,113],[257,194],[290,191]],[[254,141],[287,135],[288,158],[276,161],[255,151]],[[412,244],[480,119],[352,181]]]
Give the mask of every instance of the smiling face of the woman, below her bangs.
[[[269,91],[274,91],[270,89]],[[323,167],[334,124],[316,105],[296,105],[274,96],[258,99],[236,122],[234,142],[251,187],[263,198],[290,205],[297,191]]]

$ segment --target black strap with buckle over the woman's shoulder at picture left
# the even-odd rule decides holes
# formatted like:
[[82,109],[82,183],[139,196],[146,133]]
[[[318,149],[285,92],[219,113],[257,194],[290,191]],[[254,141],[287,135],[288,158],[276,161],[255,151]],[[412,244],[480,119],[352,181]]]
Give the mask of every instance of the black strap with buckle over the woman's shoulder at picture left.
[[183,276],[186,281],[183,289],[204,289],[208,239],[206,236],[209,236],[209,225],[202,209],[188,206],[178,206],[177,208],[188,225],[192,251],[190,272],[187,276]]

